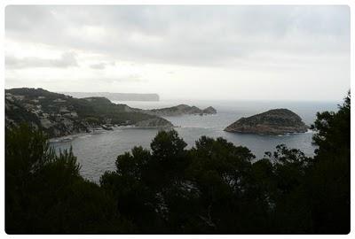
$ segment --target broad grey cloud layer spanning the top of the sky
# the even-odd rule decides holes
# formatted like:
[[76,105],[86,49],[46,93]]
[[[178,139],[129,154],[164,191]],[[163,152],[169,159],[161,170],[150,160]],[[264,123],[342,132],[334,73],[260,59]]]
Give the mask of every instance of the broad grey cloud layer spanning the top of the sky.
[[[14,41],[140,62],[211,66],[253,59],[264,51],[319,55],[350,50],[347,6],[12,5],[5,13],[5,34]],[[104,34],[88,34],[88,28]]]

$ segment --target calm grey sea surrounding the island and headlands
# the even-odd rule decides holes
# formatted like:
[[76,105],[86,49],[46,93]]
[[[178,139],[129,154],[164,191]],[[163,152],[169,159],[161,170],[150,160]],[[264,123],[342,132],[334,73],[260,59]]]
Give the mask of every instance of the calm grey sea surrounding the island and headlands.
[[[120,103],[142,109],[162,108],[177,104],[189,104],[201,108],[211,105],[217,109],[216,115],[185,115],[166,117],[166,119],[177,126],[176,130],[178,134],[185,140],[188,147],[192,147],[201,135],[208,135],[210,137],[222,136],[236,145],[248,147],[256,155],[256,158],[262,158],[265,151],[275,150],[275,147],[280,143],[284,143],[291,148],[303,150],[304,153],[312,156],[315,149],[312,146],[312,132],[269,136],[233,134],[225,132],[223,129],[241,117],[248,117],[274,108],[288,108],[301,116],[307,125],[311,125],[313,120],[315,120],[316,112],[336,111],[336,104],[338,104],[336,102],[192,102],[183,100]],[[72,146],[75,156],[82,166],[82,175],[91,181],[99,181],[102,173],[107,170],[114,170],[114,161],[118,155],[129,151],[136,145],[149,148],[149,144],[157,132],[156,129],[125,127],[99,134],[76,135],[72,141],[52,142],[51,145],[56,150],[68,149]]]

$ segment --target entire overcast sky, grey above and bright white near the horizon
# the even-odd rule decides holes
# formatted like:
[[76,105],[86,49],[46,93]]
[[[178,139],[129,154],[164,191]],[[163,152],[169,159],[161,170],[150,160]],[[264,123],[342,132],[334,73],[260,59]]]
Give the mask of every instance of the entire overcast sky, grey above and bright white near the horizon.
[[341,100],[347,6],[7,6],[5,87]]

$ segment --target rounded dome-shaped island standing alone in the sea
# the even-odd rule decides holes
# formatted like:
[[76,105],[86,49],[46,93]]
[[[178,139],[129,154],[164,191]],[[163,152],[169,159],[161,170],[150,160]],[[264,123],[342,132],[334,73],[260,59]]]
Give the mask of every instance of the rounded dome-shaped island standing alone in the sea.
[[275,109],[241,118],[228,127],[227,132],[250,133],[260,135],[284,135],[287,133],[304,133],[307,126],[302,119],[288,109]]

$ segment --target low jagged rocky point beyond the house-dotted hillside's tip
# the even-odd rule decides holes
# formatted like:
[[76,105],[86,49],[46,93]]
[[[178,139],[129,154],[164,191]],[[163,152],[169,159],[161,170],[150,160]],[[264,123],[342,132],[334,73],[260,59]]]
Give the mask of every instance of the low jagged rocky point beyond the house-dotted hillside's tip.
[[169,108],[161,108],[154,110],[146,110],[144,111],[147,114],[156,115],[156,116],[180,116],[184,114],[215,114],[217,113],[216,109],[212,106],[201,110],[196,106],[189,106],[187,104],[179,104],[177,106],[169,107]]

